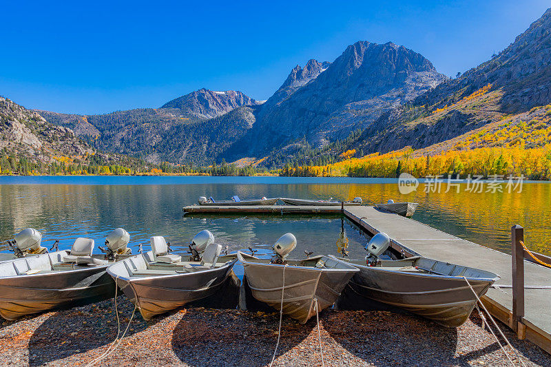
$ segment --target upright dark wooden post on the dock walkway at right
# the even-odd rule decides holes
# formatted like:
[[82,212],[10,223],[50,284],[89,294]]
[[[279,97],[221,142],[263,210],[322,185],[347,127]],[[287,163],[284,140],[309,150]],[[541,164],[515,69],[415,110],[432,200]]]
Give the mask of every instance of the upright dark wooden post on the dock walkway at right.
[[512,255],[512,319],[511,328],[519,339],[524,339],[526,330],[522,319],[524,317],[524,229],[519,224],[511,227]]

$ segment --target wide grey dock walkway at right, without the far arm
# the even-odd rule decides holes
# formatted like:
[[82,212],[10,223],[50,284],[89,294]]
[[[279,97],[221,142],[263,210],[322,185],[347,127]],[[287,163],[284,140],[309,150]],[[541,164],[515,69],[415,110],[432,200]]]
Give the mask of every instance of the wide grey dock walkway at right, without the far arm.
[[[492,271],[501,276],[496,282],[497,285],[512,284],[512,258],[506,253],[373,207],[348,207],[344,209],[344,215],[371,233],[387,233],[396,244],[427,258]],[[544,266],[525,260],[524,274],[526,286],[551,285],[551,269]],[[501,306],[512,313],[511,289],[490,289],[485,297],[495,303],[495,306]],[[539,339],[543,336],[543,339],[547,340],[547,344],[544,345],[541,345],[541,340],[540,343],[534,340],[534,343],[551,353],[551,290],[526,289],[525,304],[524,319],[527,326],[534,326],[532,331],[539,333]],[[506,319],[501,321],[508,324]],[[530,333],[528,336],[530,337]]]

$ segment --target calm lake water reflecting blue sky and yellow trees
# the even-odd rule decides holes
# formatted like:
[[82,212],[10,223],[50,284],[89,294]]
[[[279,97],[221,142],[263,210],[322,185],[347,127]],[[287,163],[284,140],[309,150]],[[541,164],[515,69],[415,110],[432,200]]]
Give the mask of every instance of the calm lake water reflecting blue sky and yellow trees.
[[[163,235],[176,249],[202,229],[209,229],[218,243],[231,250],[254,247],[269,249],[280,235],[291,232],[298,239],[295,257],[304,250],[316,254],[337,254],[337,240],[349,240],[351,258],[364,257],[366,238],[351,222],[340,216],[183,216],[182,207],[199,196],[229,199],[296,197],[337,200],[360,196],[375,204],[395,201],[419,202],[415,220],[492,249],[509,252],[510,227],[526,229],[526,244],[540,253],[551,254],[551,185],[525,183],[521,193],[425,193],[402,195],[397,181],[371,178],[280,178],[280,177],[124,177],[57,176],[0,177],[0,241],[12,238],[25,227],[43,233],[43,246],[61,240],[68,249],[76,237],[96,240],[123,227],[131,244]],[[506,191],[506,190],[505,190]],[[136,249],[134,249],[136,253]],[[453,259],[451,259],[453,260]]]

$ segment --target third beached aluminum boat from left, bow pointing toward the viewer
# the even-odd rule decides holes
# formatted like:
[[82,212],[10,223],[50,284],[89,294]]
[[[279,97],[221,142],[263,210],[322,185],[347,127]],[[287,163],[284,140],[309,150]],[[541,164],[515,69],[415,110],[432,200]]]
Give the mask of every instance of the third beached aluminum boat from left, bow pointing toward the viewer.
[[273,245],[275,255],[271,260],[245,258],[242,252],[238,252],[238,259],[256,300],[304,324],[315,315],[315,302],[317,311],[333,305],[359,270],[327,256],[287,260],[295,246],[295,236],[287,233]]

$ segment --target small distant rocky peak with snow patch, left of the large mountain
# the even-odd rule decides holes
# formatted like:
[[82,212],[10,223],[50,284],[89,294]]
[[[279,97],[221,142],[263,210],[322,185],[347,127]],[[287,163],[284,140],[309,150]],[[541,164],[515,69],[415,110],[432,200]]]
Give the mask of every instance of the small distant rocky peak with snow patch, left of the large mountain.
[[239,91],[215,92],[202,88],[165,103],[160,108],[179,109],[185,116],[215,118],[241,106],[260,105]]

